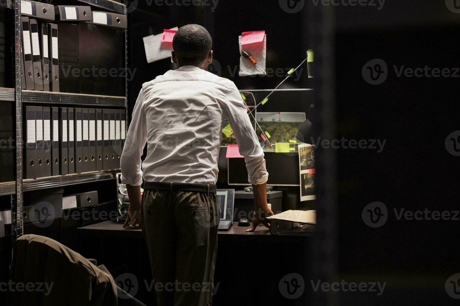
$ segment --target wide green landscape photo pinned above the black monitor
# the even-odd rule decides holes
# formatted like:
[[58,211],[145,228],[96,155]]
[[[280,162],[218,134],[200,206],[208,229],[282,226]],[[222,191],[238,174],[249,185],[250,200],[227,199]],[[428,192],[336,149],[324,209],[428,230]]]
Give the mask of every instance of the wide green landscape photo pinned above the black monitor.
[[[275,144],[277,142],[289,143],[289,140],[297,141],[296,134],[300,125],[305,121],[305,113],[258,112],[256,114],[256,120],[259,123],[259,126],[256,128],[256,134],[264,148],[264,152],[275,152]],[[267,133],[265,133],[265,135],[272,146],[261,138],[260,134],[262,134],[262,132],[260,129],[263,129],[264,132],[268,132],[270,137],[268,137]],[[298,152],[297,145],[290,143],[290,147],[294,149],[290,152]]]

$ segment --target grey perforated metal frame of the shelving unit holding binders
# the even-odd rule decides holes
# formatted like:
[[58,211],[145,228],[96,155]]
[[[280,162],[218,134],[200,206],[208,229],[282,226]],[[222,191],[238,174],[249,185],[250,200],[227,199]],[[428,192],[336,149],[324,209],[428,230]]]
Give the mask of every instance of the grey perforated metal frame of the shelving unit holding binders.
[[[91,6],[126,14],[126,6],[114,0],[77,0]],[[77,4],[77,3],[75,3]],[[57,3],[53,3],[57,5]],[[22,104],[23,102],[66,104],[81,106],[124,107],[127,110],[127,80],[124,97],[70,94],[23,90],[21,84],[21,0],[11,1],[14,10],[14,89],[0,88],[0,100],[15,101],[15,139],[22,144]],[[127,30],[125,29],[125,59],[127,67]],[[128,117],[127,117],[128,119]],[[128,121],[128,120],[127,120]],[[11,239],[14,241],[23,234],[23,192],[57,186],[103,181],[115,178],[115,170],[86,172],[48,178],[23,179],[22,146],[16,146],[16,180],[0,184],[0,195],[11,195]],[[115,186],[114,186],[115,190]]]

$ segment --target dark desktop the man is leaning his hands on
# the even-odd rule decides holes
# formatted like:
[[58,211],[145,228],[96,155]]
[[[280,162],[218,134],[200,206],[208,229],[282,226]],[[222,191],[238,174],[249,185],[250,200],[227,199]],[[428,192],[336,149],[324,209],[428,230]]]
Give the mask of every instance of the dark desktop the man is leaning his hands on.
[[[120,237],[120,238],[143,238],[142,230],[138,227],[123,228],[123,223],[116,221],[104,221],[92,225],[78,228],[78,233],[95,237]],[[257,239],[257,241],[266,241],[274,243],[293,243],[305,242],[305,237],[299,236],[280,236],[271,235],[270,229],[259,225],[252,233],[247,233],[249,227],[239,227],[238,223],[233,223],[228,231],[219,231],[219,240],[226,239]]]

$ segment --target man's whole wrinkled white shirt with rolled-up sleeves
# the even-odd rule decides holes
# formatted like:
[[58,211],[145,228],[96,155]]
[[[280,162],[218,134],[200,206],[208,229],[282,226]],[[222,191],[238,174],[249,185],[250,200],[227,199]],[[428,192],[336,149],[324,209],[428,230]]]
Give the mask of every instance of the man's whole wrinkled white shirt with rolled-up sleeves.
[[[268,173],[246,106],[235,86],[195,66],[170,70],[144,83],[121,155],[121,182],[216,184],[223,122],[228,119],[251,184]],[[147,143],[147,156],[141,156]]]

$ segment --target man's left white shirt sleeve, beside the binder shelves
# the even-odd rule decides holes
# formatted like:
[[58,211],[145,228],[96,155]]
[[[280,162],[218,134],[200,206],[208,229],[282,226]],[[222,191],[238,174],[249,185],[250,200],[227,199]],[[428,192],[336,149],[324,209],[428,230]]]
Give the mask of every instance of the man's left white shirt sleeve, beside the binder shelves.
[[142,184],[141,156],[146,142],[146,119],[144,112],[144,90],[141,89],[132,111],[132,120],[121,154],[121,183],[132,186]]

